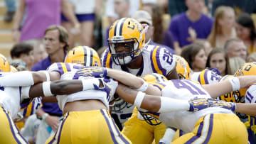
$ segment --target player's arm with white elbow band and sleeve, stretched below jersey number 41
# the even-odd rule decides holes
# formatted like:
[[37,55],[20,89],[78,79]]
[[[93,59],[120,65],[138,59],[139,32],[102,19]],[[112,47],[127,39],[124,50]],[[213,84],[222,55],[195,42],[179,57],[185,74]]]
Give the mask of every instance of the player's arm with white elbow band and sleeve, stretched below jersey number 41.
[[130,104],[134,104],[134,106],[160,113],[171,111],[197,111],[203,108],[201,104],[205,104],[204,101],[183,101],[163,96],[152,96],[143,92],[137,92],[123,84],[118,85],[116,93],[121,99],[124,99],[124,101]]

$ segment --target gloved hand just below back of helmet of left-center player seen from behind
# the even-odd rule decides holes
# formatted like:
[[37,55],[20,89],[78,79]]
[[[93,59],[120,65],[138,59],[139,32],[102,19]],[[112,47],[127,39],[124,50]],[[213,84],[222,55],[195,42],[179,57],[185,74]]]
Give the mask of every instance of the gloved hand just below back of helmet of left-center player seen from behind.
[[78,71],[83,77],[107,77],[106,67],[87,67]]

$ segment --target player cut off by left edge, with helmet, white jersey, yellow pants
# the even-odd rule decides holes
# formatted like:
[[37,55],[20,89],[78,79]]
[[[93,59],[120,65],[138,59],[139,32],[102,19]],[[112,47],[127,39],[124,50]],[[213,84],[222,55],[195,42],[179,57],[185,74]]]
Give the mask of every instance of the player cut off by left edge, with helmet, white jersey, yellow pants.
[[[0,54],[0,77],[8,74],[11,74],[9,62],[4,55]],[[40,99],[33,100],[27,109],[32,101],[28,96],[29,89],[30,87],[0,87],[0,143],[27,143],[14,124],[14,120],[17,120],[17,113],[20,109],[23,109],[23,114],[31,109],[29,114],[33,114],[39,108],[36,105],[41,104]]]

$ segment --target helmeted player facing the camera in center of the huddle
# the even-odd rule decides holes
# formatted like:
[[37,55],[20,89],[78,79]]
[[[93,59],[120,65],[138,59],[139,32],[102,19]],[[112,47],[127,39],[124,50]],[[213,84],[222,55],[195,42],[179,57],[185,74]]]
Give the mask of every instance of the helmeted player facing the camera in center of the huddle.
[[[147,26],[143,28],[142,24],[134,18],[121,18],[115,21],[112,26],[110,26],[108,39],[109,48],[103,52],[102,66],[114,70],[123,70],[134,74],[137,77],[143,77],[146,74],[159,73],[163,74],[167,79],[178,79],[175,70],[175,57],[173,57],[171,52],[166,48],[145,44],[146,31]],[[132,116],[133,109],[134,106],[132,106],[132,104],[128,104],[122,99],[114,101],[112,117],[120,130],[122,130],[124,122]],[[147,138],[138,138],[136,133],[132,134],[132,131],[134,130],[131,129],[136,125],[138,124],[135,122],[129,122],[129,124],[126,123],[128,129],[125,128],[122,133],[127,135],[132,143],[140,143],[139,139],[147,139],[149,140],[149,143],[151,143],[152,134],[151,131],[149,131],[149,129],[151,129],[149,127],[151,126],[145,122],[140,123],[140,128],[144,131],[144,135],[149,133],[149,136]],[[162,127],[161,129],[165,131],[166,127],[163,126],[163,124],[161,124],[161,126],[154,126],[154,128],[158,127]],[[137,132],[139,133],[139,131]],[[153,134],[160,138],[163,135],[161,131]]]

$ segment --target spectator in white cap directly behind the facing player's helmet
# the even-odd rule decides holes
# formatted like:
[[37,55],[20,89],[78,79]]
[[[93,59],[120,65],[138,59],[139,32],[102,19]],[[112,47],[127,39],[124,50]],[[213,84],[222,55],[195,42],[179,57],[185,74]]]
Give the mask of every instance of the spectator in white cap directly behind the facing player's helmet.
[[149,26],[149,29],[146,32],[146,38],[145,38],[145,43],[148,43],[149,45],[159,45],[161,47],[164,47],[168,50],[170,50],[171,53],[174,53],[174,50],[171,48],[167,47],[166,45],[161,45],[159,43],[154,43],[153,39],[154,38],[154,26],[152,25],[152,18],[149,15],[148,12],[146,11],[136,11],[132,18],[136,19],[139,23],[146,24]]

